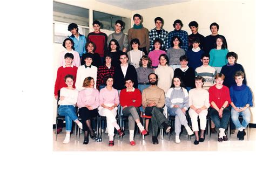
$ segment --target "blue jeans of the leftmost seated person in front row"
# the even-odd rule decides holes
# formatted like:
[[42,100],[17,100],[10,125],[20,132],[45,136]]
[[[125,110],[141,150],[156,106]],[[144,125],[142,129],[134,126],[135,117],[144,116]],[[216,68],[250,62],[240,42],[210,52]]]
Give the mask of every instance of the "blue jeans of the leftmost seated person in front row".
[[58,113],[61,116],[65,116],[66,131],[70,132],[72,130],[72,121],[78,120],[75,106],[73,106],[73,105],[60,105],[59,108],[58,108]]

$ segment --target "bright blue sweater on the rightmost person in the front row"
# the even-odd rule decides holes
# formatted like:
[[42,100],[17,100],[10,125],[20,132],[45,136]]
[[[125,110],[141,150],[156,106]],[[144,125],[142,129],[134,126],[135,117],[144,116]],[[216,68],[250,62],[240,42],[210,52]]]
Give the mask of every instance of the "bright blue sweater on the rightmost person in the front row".
[[231,101],[237,107],[244,107],[246,104],[253,106],[252,104],[252,92],[247,85],[237,86],[233,85],[230,87],[230,98]]

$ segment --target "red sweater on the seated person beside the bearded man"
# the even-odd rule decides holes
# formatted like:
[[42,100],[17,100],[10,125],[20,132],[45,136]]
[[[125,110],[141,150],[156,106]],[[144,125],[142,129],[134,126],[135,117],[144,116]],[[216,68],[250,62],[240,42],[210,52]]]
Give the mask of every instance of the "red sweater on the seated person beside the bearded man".
[[126,88],[122,89],[120,92],[120,105],[127,106],[127,107],[142,106],[142,94],[140,93],[139,89],[135,89],[134,92],[126,92]]

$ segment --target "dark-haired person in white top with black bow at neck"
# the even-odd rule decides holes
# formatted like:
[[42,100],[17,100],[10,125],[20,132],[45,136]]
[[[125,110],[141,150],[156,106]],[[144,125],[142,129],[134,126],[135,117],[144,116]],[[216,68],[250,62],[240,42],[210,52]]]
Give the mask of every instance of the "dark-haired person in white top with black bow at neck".
[[[77,69],[77,79],[76,79],[76,89],[78,91],[83,90],[84,79],[87,77],[92,77],[93,79],[97,79],[97,71],[98,68],[92,65],[92,53],[85,54],[85,65],[79,66]],[[96,83],[94,84],[93,88],[96,89]]]

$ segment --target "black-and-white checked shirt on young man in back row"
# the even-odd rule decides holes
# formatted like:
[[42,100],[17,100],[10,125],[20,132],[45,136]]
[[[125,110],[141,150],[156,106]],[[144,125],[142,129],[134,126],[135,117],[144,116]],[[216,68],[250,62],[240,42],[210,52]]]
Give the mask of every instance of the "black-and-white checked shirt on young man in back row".
[[156,38],[160,38],[161,40],[163,40],[163,44],[161,45],[162,50],[167,51],[167,44],[168,44],[168,32],[165,31],[163,28],[161,28],[161,32],[157,33],[157,28],[155,27],[154,29],[150,30],[149,32],[149,37],[150,37],[150,51],[153,50],[153,41]]

